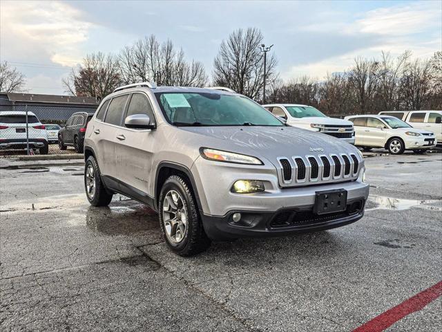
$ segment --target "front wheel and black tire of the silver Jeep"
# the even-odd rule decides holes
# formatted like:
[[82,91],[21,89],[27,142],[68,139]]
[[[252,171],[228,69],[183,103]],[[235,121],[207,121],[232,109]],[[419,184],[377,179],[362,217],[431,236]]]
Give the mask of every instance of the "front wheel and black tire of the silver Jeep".
[[209,248],[193,192],[181,176],[169,176],[164,182],[158,210],[164,240],[177,255],[193,256]]

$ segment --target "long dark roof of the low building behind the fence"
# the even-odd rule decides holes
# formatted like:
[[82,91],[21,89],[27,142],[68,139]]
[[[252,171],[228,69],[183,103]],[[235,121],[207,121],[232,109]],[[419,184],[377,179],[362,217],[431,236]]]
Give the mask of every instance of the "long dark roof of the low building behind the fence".
[[35,93],[2,93],[8,95],[11,102],[44,102],[49,104],[82,104],[97,105],[99,101],[93,97],[75,95],[37,95]]

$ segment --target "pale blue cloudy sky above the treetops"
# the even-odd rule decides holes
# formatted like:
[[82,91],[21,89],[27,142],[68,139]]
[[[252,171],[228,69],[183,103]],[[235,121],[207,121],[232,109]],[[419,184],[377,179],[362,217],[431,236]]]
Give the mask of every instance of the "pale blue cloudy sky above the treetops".
[[442,1],[7,1],[0,59],[32,93],[64,93],[61,79],[87,53],[117,53],[145,35],[170,38],[211,74],[222,39],[260,28],[281,77],[343,71],[357,55],[442,50]]

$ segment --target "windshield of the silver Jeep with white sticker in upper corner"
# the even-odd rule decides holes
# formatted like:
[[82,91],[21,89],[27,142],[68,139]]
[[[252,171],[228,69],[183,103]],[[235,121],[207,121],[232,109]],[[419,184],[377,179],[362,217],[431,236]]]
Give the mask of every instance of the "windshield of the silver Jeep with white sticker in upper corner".
[[166,119],[184,126],[283,126],[248,98],[219,93],[155,93]]

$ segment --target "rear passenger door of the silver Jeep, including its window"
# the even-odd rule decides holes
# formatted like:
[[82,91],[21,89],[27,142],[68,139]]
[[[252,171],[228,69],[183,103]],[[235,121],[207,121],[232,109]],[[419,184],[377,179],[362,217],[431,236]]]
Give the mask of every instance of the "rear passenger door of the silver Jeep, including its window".
[[126,109],[128,97],[129,95],[127,93],[114,97],[111,100],[106,113],[103,115],[100,114],[104,119],[96,119],[92,133],[93,140],[95,140],[95,145],[97,147],[97,163],[100,172],[111,181],[111,185],[117,190],[119,190],[119,185],[117,184],[117,168],[115,161],[115,155],[117,154],[116,136],[117,129],[121,127],[122,124],[123,113]]

